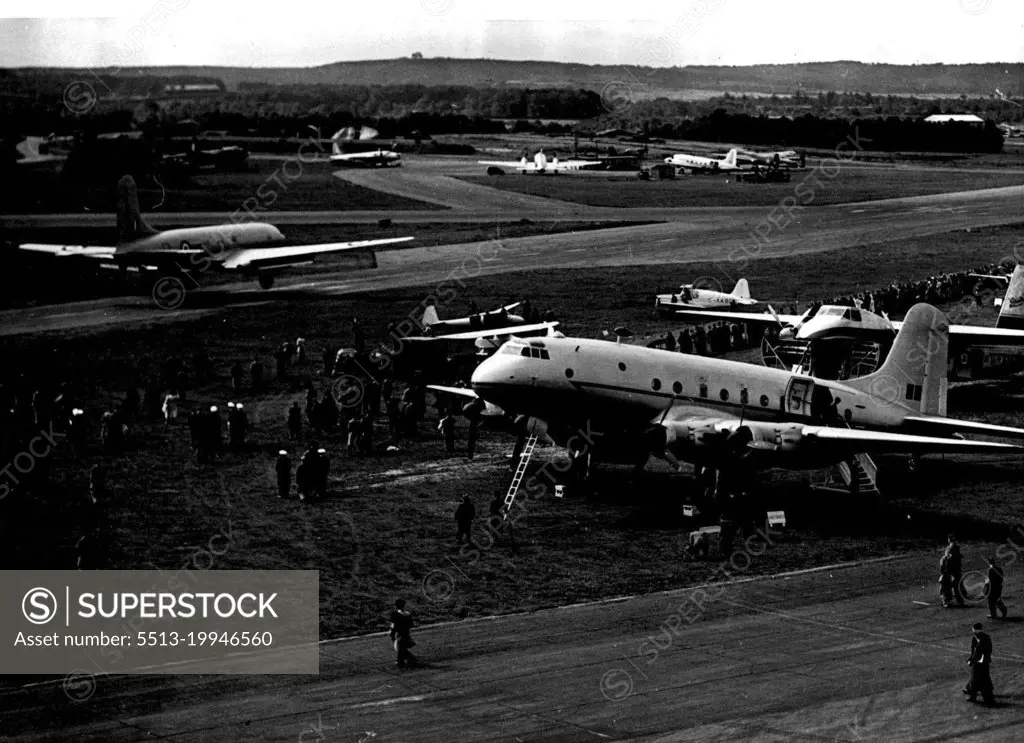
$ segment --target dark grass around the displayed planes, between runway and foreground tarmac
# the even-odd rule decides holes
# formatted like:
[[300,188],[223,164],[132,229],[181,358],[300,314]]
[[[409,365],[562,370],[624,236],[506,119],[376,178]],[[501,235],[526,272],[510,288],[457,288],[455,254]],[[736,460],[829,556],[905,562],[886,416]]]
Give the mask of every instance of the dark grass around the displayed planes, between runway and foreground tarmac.
[[[763,260],[746,276],[759,299],[803,302],[998,260],[1022,236],[1024,226],[1018,225]],[[538,308],[553,308],[568,334],[594,337],[621,324],[641,336],[662,334],[673,326],[652,316],[655,291],[695,275],[715,275],[715,270],[713,265],[668,265],[656,275],[638,267],[484,276],[474,281],[471,294],[443,309],[457,315],[470,299],[484,307],[510,297],[529,298]],[[40,384],[73,381],[95,434],[99,413],[123,396],[139,369],[155,374],[169,355],[188,361],[199,348],[214,358],[217,378],[188,390],[186,408],[223,405],[232,399],[228,368],[233,361],[259,355],[272,368],[270,353],[296,336],[307,339],[311,359],[299,374],[308,373],[317,389],[328,390],[331,382],[316,374],[319,353],[325,346],[348,345],[352,316],[362,318],[373,343],[383,339],[387,322],[407,314],[425,294],[425,288],[412,288],[298,304],[242,304],[161,325],[159,333],[121,326],[5,338],[0,355],[16,361],[5,367],[6,376],[17,368]],[[979,319],[989,317],[987,312]],[[328,498],[314,505],[280,500],[274,453],[285,446],[297,460],[311,439],[301,445],[288,441],[285,411],[293,400],[301,404],[303,394],[270,377],[267,391],[240,398],[249,410],[252,448],[225,453],[216,465],[196,464],[183,422],[168,428],[156,421],[134,425],[121,455],[102,454],[94,446],[86,458],[76,460],[60,447],[51,462],[54,484],[48,498],[0,501],[3,562],[9,568],[72,564],[82,520],[76,504],[86,489],[88,468],[98,462],[109,468],[112,488],[99,510],[102,567],[318,569],[325,638],[383,628],[396,596],[413,599],[420,620],[430,622],[680,587],[712,578],[719,565],[684,556],[688,527],[679,507],[692,493],[691,478],[671,473],[656,460],[639,481],[630,479],[629,468],[600,468],[596,488],[586,497],[570,492],[555,499],[549,486],[548,495],[526,502],[515,527],[516,554],[505,539],[478,554],[460,551],[455,507],[469,493],[478,514],[486,514],[488,501],[508,485],[506,455],[513,440],[509,434],[483,432],[475,460],[462,456],[464,449],[445,457],[432,407],[417,438],[394,442],[397,451],[383,451],[383,420],[375,431],[379,452],[365,458],[346,454],[339,434],[321,437],[317,443],[332,457]],[[1024,396],[1013,383],[954,390],[949,407],[951,414],[1024,425]],[[462,422],[459,433],[463,447]],[[531,471],[560,456],[542,448]],[[808,483],[823,473],[761,476],[754,510],[784,509],[790,526],[776,539],[777,548],[752,561],[743,574],[938,551],[950,529],[968,540],[967,569],[973,569],[981,567],[981,556],[971,540],[1005,538],[1010,527],[1024,522],[1019,455],[929,457],[913,476],[903,472],[900,457],[885,457],[882,467],[881,500],[810,493]],[[222,533],[228,547],[210,555],[211,539],[218,548],[224,543]],[[487,537],[478,535],[486,545]]]

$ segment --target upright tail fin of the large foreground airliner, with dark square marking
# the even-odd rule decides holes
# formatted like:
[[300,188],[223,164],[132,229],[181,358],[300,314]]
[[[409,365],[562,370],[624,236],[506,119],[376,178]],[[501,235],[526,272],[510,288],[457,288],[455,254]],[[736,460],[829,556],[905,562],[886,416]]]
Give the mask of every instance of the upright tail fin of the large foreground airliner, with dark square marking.
[[882,366],[844,384],[915,413],[945,416],[948,353],[946,316],[929,304],[915,304]]

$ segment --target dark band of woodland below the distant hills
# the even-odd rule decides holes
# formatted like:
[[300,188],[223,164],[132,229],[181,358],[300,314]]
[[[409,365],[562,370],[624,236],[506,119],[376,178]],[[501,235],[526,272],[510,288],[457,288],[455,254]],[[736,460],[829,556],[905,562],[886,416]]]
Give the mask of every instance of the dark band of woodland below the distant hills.
[[[602,100],[593,90],[402,85],[268,85],[241,83],[238,92],[205,97],[144,98],[168,83],[212,78],[99,76],[98,100],[73,114],[61,95],[67,76],[0,74],[4,138],[141,130],[154,137],[181,135],[182,123],[231,136],[330,137],[338,129],[369,125],[380,137],[425,138],[444,134],[515,131],[564,133],[564,121],[585,128],[622,128],[649,137],[751,144],[831,147],[858,130],[879,150],[998,151],[1001,135],[984,127],[925,125],[936,113],[974,113],[995,121],[1024,118],[1024,105],[998,97],[919,99],[828,91],[793,96],[735,96],[710,100],[669,98]],[[131,96],[139,96],[132,99]],[[906,118],[909,117],[909,118]],[[543,122],[543,123],[542,123]],[[312,128],[312,129],[311,129]]]

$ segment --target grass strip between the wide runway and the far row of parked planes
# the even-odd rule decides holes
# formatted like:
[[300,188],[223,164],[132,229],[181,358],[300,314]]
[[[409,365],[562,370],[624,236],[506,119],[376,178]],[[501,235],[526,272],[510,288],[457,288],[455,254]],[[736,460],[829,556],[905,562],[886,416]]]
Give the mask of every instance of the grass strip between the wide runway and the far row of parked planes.
[[[793,173],[788,183],[740,183],[724,175],[685,175],[670,180],[644,181],[633,173],[534,176],[460,176],[492,188],[557,199],[590,207],[756,207],[775,206],[793,196],[803,206],[825,206],[878,199],[918,196],[975,188],[997,188],[1024,183],[1024,172],[971,173],[955,170],[891,170],[837,167]],[[830,176],[830,177],[829,177]],[[797,190],[804,182],[803,188]],[[812,201],[808,202],[808,198]]]

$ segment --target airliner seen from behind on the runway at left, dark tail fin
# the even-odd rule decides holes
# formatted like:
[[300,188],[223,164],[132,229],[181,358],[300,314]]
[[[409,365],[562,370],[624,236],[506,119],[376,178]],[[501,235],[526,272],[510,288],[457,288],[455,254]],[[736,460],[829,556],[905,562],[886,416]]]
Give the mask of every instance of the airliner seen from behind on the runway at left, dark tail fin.
[[351,243],[281,246],[285,235],[265,222],[181,227],[160,231],[142,218],[138,190],[130,175],[118,181],[118,245],[115,247],[43,245],[26,243],[22,250],[47,253],[59,258],[90,258],[102,267],[127,270],[170,270],[196,275],[206,270],[254,276],[262,289],[270,289],[278,273],[304,266],[318,255],[404,243],[413,237],[387,237]]

